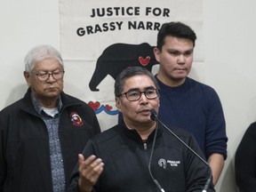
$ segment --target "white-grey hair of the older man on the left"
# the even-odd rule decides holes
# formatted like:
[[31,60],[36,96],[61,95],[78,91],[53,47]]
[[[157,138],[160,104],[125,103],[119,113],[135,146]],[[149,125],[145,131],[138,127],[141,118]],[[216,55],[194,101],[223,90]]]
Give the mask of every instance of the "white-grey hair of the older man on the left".
[[58,60],[62,68],[64,68],[64,63],[59,51],[48,44],[37,45],[27,53],[24,59],[25,71],[31,72],[37,62],[50,58]]

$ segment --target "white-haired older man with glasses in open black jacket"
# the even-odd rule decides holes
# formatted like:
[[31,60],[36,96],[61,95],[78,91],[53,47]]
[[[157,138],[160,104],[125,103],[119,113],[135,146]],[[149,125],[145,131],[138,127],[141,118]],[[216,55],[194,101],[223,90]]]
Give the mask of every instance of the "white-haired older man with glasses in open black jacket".
[[81,153],[100,132],[90,106],[63,92],[60,52],[38,45],[25,57],[24,98],[0,112],[0,191],[63,192]]

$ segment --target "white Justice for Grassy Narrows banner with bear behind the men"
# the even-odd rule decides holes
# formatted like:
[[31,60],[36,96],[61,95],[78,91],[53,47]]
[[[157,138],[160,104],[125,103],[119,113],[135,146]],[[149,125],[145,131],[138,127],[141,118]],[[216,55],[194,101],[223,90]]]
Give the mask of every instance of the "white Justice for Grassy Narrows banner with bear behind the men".
[[204,81],[202,6],[202,0],[60,0],[65,92],[95,110],[102,131],[115,125],[116,76],[128,66],[142,66],[156,74],[156,35],[170,21],[184,22],[195,30],[190,76]]

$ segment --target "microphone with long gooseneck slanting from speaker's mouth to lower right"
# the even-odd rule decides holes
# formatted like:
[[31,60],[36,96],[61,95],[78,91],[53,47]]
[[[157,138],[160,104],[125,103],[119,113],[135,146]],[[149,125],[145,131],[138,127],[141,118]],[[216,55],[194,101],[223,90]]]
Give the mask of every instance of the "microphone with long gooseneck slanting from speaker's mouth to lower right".
[[202,192],[207,192],[209,187],[210,187],[210,184],[211,184],[211,181],[212,181],[212,169],[211,167],[209,166],[209,164],[204,160],[204,158],[202,158],[201,156],[199,156],[196,151],[194,151],[192,148],[190,148],[187,143],[185,143],[183,140],[180,139],[180,137],[178,135],[176,135],[174,132],[172,132],[172,130],[170,130],[163,122],[161,122],[157,116],[157,113],[156,113],[156,109],[155,108],[151,108],[150,110],[151,112],[151,115],[150,115],[150,118],[153,120],[153,121],[156,121],[158,122],[159,124],[162,124],[164,126],[164,128],[168,131],[168,132],[171,132],[172,133],[172,136],[174,136],[177,140],[180,140],[180,142],[186,146],[186,148],[188,148],[195,156],[197,156],[204,164],[206,164],[206,166],[209,168],[210,170],[210,177],[209,179],[206,181],[205,185],[204,185],[204,189],[202,190]]

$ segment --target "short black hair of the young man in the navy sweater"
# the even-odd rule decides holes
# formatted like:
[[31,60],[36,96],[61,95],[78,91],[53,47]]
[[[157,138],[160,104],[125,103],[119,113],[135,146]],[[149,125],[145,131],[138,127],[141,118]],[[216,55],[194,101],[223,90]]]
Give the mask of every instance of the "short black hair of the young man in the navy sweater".
[[162,27],[159,29],[157,34],[157,43],[156,47],[160,51],[162,50],[162,46],[164,45],[165,36],[175,36],[178,38],[186,38],[193,42],[195,46],[196,42],[196,33],[192,30],[192,28],[188,27],[184,23],[181,22],[169,22],[164,23]]

